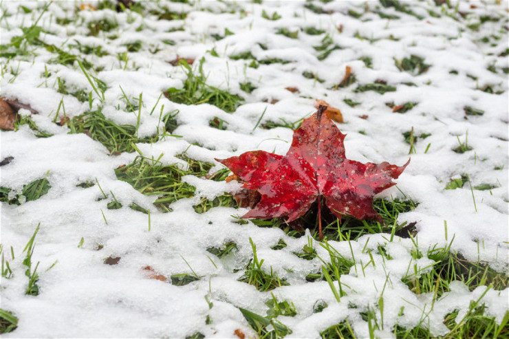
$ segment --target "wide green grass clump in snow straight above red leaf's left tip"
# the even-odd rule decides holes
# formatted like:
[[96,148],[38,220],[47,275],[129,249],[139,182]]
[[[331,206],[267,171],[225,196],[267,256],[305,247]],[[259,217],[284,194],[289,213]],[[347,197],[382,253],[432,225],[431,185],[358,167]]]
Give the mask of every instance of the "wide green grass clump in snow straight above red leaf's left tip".
[[243,98],[237,94],[230,94],[229,91],[207,85],[203,63],[204,59],[202,58],[199,61],[198,69],[193,71],[184,59],[180,60],[180,65],[184,67],[187,75],[184,87],[182,89],[172,87],[164,92],[164,96],[179,104],[199,105],[208,103],[228,113],[234,112],[243,102]]

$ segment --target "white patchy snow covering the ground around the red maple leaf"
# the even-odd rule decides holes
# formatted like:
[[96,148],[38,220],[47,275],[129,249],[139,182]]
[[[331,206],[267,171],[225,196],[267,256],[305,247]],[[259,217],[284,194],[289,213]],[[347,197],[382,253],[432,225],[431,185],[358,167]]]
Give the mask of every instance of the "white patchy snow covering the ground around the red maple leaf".
[[[466,261],[480,261],[508,273],[508,2],[451,1],[451,7],[431,0],[402,2],[411,14],[398,11],[397,6],[382,6],[389,2],[144,1],[143,15],[80,8],[85,3],[98,6],[89,1],[54,1],[44,13],[49,3],[43,1],[1,3],[2,45],[22,36],[22,28],[26,34],[43,13],[37,23],[43,43],[25,40],[25,53],[0,58],[1,96],[30,105],[39,112],[32,115],[36,126],[52,134],[38,138],[28,124],[0,132],[0,161],[13,158],[1,166],[0,186],[11,189],[9,199],[21,195],[23,186],[36,179],[45,177],[51,186],[34,201],[1,203],[3,261],[8,261],[12,274],[2,274],[0,307],[19,319],[17,329],[4,337],[255,336],[239,308],[266,316],[271,293],[279,301],[294,304],[295,316],[277,317],[292,331],[287,338],[316,338],[345,320],[356,336],[369,337],[369,324],[362,316],[369,311],[375,314],[375,334],[380,338],[393,336],[396,324],[408,329],[420,325],[433,336],[443,335],[448,332],[444,317],[459,310],[457,320],[461,320],[470,301],[481,296],[485,315],[500,323],[509,309],[508,288],[486,292],[485,285],[472,290],[455,281],[436,298],[433,292],[415,293],[402,278],[409,272],[429,272],[434,261],[426,253],[448,245]],[[188,14],[184,20],[158,19],[157,13],[165,8]],[[316,8],[324,13],[316,13]],[[272,17],[275,12],[280,19]],[[116,25],[90,35],[89,23],[100,20]],[[306,28],[323,32],[307,34]],[[278,31],[298,34],[292,39]],[[8,48],[21,51],[25,41]],[[128,45],[138,41],[141,45],[129,52]],[[47,45],[90,63],[87,74],[96,86],[92,76],[105,83],[104,97],[100,89],[91,87],[77,61],[54,61],[58,54]],[[107,53],[86,54],[79,45],[101,46]],[[325,52],[332,50],[328,56],[314,48],[320,45],[325,45]],[[289,63],[250,67],[252,58],[230,58],[244,52],[258,61],[279,58]],[[429,68],[421,74],[418,69],[398,69],[398,63],[412,55],[424,59]],[[177,56],[194,59],[195,72],[204,58],[206,83],[241,96],[243,105],[227,113],[213,105],[184,105],[160,97],[171,87],[182,88],[186,79],[182,66],[169,63]],[[356,82],[334,88],[347,66]],[[304,72],[314,75],[305,77]],[[356,91],[377,80],[396,90]],[[256,87],[251,93],[239,85],[248,82]],[[62,83],[69,94],[58,92]],[[79,89],[85,89],[83,102],[70,94]],[[141,108],[129,109],[125,97],[138,102],[141,93]],[[138,152],[184,168],[186,162],[176,155],[186,152],[194,160],[215,164],[210,173],[222,168],[215,158],[256,149],[284,155],[292,129],[261,129],[261,125],[310,116],[316,99],[343,112],[345,122],[338,127],[347,134],[349,159],[401,166],[411,157],[398,185],[380,197],[418,204],[398,217],[398,224],[415,222],[414,239],[382,233],[328,241],[338,254],[355,262],[340,278],[345,295],[339,302],[327,281],[306,281],[307,274],[320,272],[323,263],[318,256],[329,261],[329,252],[312,240],[317,257],[308,261],[294,254],[310,241],[309,231],[295,238],[280,228],[236,223],[235,217],[248,208],[195,212],[193,206],[202,197],[213,199],[235,190],[235,181],[188,175],[183,181],[196,187],[195,196],[176,201],[171,204],[173,211],[164,213],[153,206],[157,196],[143,195],[116,177],[115,169],[133,162]],[[359,105],[350,107],[345,99]],[[405,113],[393,113],[389,107],[407,102],[417,105]],[[158,133],[164,124],[161,117],[177,109],[178,127],[172,135],[181,138],[166,135],[153,143],[137,143],[138,151],[110,155],[87,133],[69,133],[68,125],[56,124],[63,109],[71,119],[101,109],[116,124],[138,126],[138,138]],[[471,109],[480,113],[471,114]],[[19,111],[21,116],[29,113]],[[210,127],[209,121],[217,118],[228,123],[226,130]],[[403,133],[412,129],[418,142],[409,155],[411,145]],[[422,134],[429,136],[419,138]],[[464,153],[453,151],[460,144]],[[462,176],[461,188],[445,189]],[[83,182],[95,185],[76,186]],[[113,194],[122,208],[107,207]],[[104,196],[107,199],[101,199]],[[19,200],[23,202],[23,197]],[[129,208],[133,203],[150,214]],[[39,263],[39,294],[35,296],[25,294],[29,277],[23,249],[39,224],[31,259],[32,272]],[[259,259],[264,259],[263,270],[272,270],[289,285],[259,292],[238,281],[253,256],[250,239]],[[287,247],[272,250],[280,239]],[[207,252],[228,241],[234,241],[237,250],[227,256],[219,259]],[[391,260],[382,256],[379,245]],[[109,257],[120,261],[105,265]],[[147,266],[152,270],[144,270]],[[151,278],[151,272],[164,277],[193,274],[199,280],[177,286],[171,279]],[[334,286],[338,287],[337,281]],[[385,300],[382,307],[380,300]],[[328,307],[315,313],[317,302]]]

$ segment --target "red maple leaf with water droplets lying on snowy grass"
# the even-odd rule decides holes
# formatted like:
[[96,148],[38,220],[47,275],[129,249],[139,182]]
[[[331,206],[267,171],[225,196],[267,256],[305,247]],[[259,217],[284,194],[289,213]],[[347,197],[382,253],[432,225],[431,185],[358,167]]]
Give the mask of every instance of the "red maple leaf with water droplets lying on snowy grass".
[[287,222],[294,221],[318,199],[322,239],[320,199],[324,197],[325,205],[338,219],[351,215],[383,223],[373,209],[373,196],[395,185],[392,179],[400,176],[410,160],[396,166],[389,162],[362,164],[347,159],[345,135],[330,120],[326,109],[327,106],[318,107],[294,131],[292,146],[285,156],[251,151],[225,160],[216,159],[244,182],[243,188],[261,194],[259,203],[243,218],[287,217]]

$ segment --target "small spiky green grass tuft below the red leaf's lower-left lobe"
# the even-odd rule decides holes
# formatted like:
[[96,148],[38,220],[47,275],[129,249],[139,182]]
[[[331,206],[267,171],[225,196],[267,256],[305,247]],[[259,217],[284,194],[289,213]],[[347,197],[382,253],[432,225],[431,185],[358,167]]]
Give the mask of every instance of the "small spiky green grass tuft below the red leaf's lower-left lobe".
[[246,272],[244,272],[243,276],[239,278],[239,281],[253,285],[261,292],[270,291],[276,287],[290,285],[286,281],[280,279],[279,276],[274,275],[272,267],[270,267],[270,274],[261,269],[263,259],[261,259],[261,261],[258,260],[257,246],[254,245],[251,238],[249,238],[249,241],[252,247],[253,259],[248,263]]

